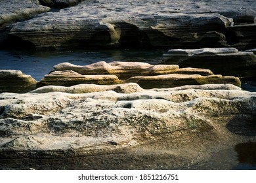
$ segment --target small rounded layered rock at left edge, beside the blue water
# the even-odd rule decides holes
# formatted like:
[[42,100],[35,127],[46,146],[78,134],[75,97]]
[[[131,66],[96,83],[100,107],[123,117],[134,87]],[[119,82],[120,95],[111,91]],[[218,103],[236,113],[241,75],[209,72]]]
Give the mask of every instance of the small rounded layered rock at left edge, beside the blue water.
[[0,93],[26,93],[34,90],[37,85],[32,76],[16,70],[0,70],[0,83]]

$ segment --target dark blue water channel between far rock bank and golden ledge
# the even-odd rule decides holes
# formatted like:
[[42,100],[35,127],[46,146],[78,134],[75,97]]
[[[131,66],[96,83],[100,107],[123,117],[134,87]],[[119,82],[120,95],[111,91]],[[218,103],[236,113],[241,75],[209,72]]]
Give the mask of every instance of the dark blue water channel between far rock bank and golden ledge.
[[39,52],[28,50],[0,50],[0,69],[20,70],[39,81],[53,70],[53,66],[70,62],[89,65],[97,61],[143,61],[156,64],[163,50],[75,50]]

